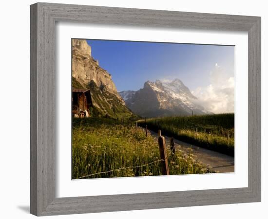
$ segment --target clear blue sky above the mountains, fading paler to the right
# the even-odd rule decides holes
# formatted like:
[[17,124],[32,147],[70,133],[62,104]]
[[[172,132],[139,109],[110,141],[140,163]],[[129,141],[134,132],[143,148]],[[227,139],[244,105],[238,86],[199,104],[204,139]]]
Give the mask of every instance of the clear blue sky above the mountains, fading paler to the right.
[[145,81],[175,78],[194,91],[211,84],[215,66],[221,67],[226,78],[234,77],[233,46],[92,39],[87,42],[100,67],[112,74],[117,91],[137,91]]

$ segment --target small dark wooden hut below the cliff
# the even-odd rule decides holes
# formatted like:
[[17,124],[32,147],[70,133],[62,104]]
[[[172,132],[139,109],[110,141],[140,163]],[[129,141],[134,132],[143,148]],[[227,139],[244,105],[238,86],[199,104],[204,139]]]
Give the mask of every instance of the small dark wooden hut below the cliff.
[[92,107],[90,90],[74,89],[72,90],[73,117],[89,117],[89,108]]

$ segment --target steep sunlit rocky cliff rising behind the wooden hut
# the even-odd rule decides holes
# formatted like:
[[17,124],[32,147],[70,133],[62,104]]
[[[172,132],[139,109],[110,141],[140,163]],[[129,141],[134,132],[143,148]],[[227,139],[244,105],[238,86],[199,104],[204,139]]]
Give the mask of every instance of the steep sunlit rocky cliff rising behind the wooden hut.
[[85,39],[72,40],[72,87],[90,89],[95,115],[114,118],[132,115],[118,94],[111,74],[92,57]]

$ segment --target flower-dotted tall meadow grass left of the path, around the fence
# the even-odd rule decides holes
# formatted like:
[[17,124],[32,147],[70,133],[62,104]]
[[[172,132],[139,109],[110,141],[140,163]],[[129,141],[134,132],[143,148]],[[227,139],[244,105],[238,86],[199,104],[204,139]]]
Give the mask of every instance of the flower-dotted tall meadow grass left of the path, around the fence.
[[[161,175],[159,148],[155,138],[134,124],[105,118],[73,120],[73,179]],[[176,151],[171,156],[170,174],[211,172],[191,154]]]

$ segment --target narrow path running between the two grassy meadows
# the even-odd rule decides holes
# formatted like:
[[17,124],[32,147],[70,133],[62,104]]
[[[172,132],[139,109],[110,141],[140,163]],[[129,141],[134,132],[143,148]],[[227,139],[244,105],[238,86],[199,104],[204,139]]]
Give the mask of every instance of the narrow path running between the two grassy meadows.
[[[152,130],[149,131],[151,132],[152,136],[157,138],[157,133]],[[170,137],[165,135],[162,136],[165,137],[166,145],[169,146]],[[220,173],[234,172],[234,157],[202,147],[190,145],[177,139],[175,139],[174,142],[176,148],[179,148],[185,152],[189,152],[189,149],[192,148],[192,153],[197,156],[197,159],[203,164],[210,165],[213,170]]]

